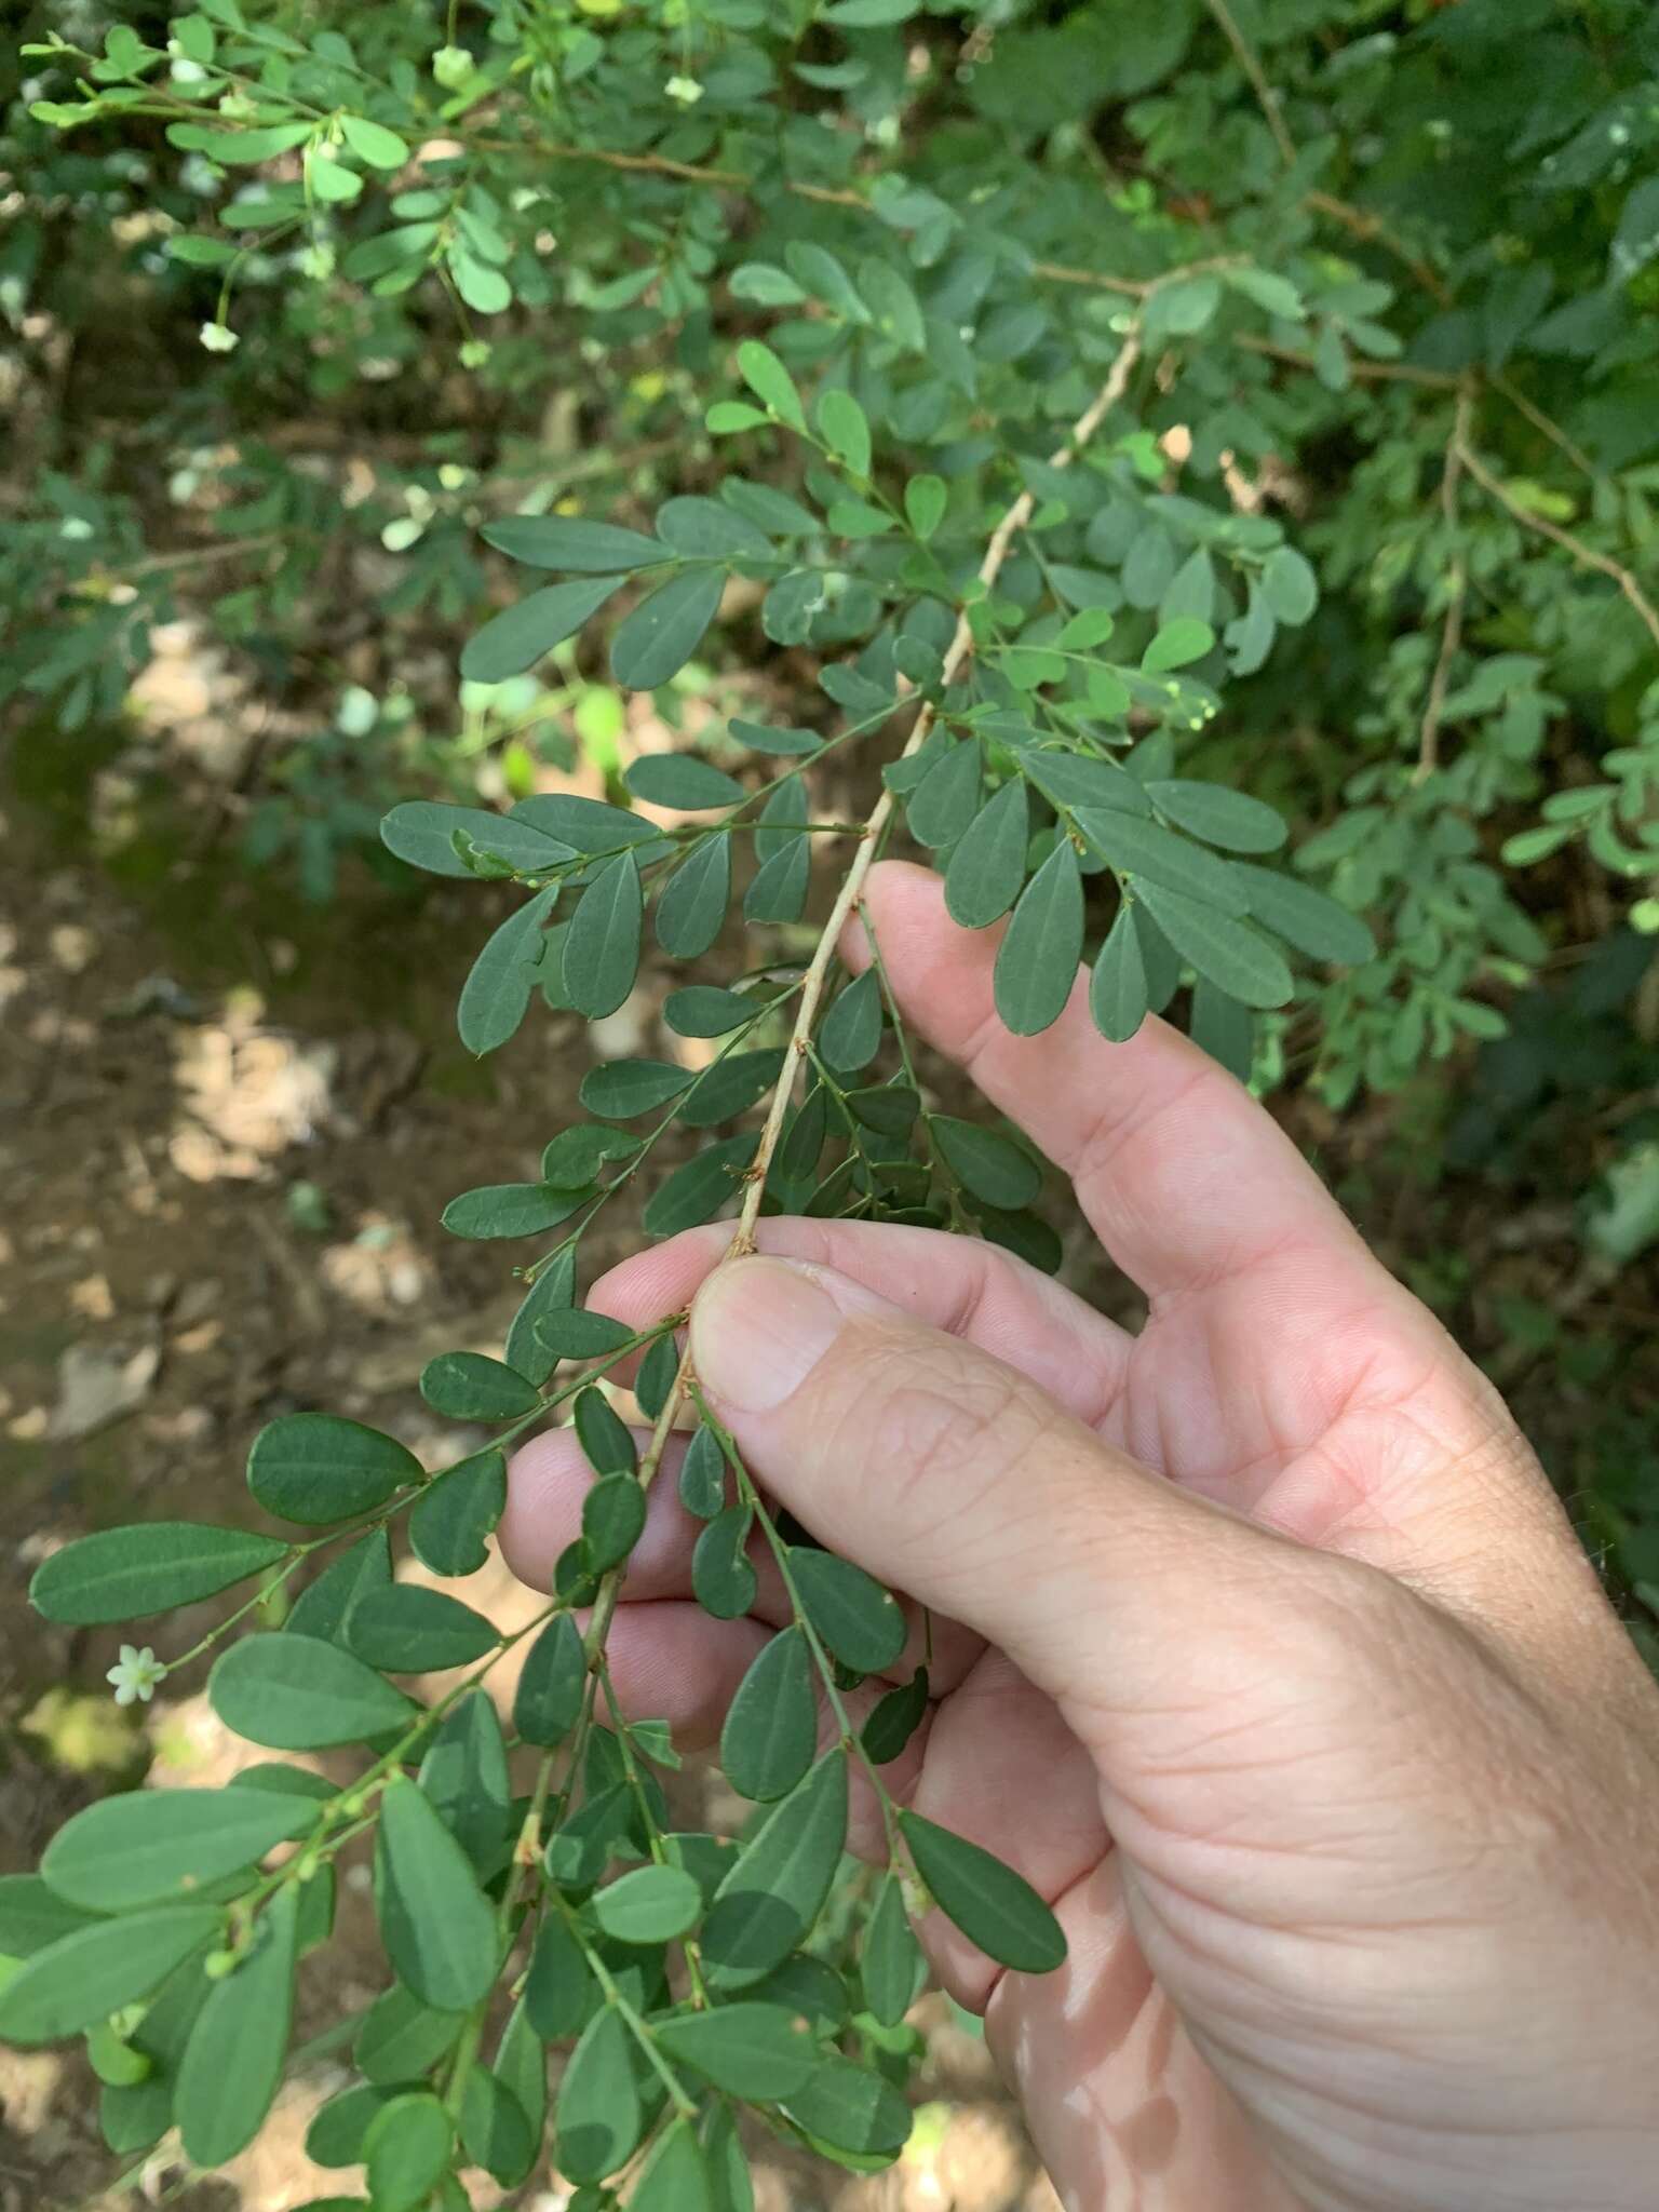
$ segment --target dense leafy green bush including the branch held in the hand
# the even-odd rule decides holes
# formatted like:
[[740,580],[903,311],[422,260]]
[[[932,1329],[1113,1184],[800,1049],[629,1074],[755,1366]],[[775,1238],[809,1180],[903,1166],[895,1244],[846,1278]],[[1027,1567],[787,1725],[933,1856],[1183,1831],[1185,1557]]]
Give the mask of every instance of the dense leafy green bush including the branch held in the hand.
[[[922,1102],[878,971],[838,980],[834,922],[900,818],[958,920],[1013,914],[1009,1026],[1046,1026],[1088,951],[1106,1035],[1175,1004],[1241,1073],[1296,1073],[1334,1106],[1504,1040],[1566,872],[1641,962],[1659,29],[1646,0],[500,0],[451,9],[442,42],[416,11],[361,18],[55,9],[24,46],[7,159],[27,199],[0,261],[15,376],[53,325],[108,347],[126,316],[161,396],[142,434],[93,422],[42,456],[0,551],[0,675],[33,743],[73,741],[210,577],[221,637],[294,684],[319,604],[389,560],[374,622],[398,646],[465,637],[460,690],[400,681],[392,655],[378,688],[316,684],[325,737],[268,763],[254,856],[292,852],[323,894],[398,799],[398,860],[522,883],[460,1004],[480,1053],[538,998],[619,1006],[648,911],[692,960],[734,942],[737,900],[748,949],[734,989],[668,1002],[681,1035],[719,1040],[701,1077],[595,1071],[595,1119],[553,1137],[542,1181],[447,1212],[458,1234],[551,1241],[504,1363],[449,1354],[429,1400],[502,1442],[573,1402],[597,1478],[515,1714],[544,1754],[531,1803],[487,1699],[427,1712],[385,1681],[498,1657],[480,1615],[392,1582],[387,1528],[407,1513],[414,1551],[467,1573],[500,1451],[427,1480],[349,1422],[279,1422],[254,1498],[354,1540],[292,1613],[272,1590],[327,1535],[93,1537],[38,1601],[117,1621],[263,1577],[217,1710],[257,1743],[365,1741],[374,1763],[338,1794],[274,1767],[181,1801],[177,1825],[159,1798],[71,1823],[0,1905],[0,1944],[40,1947],[0,2033],[88,2031],[117,2148],[177,2119],[190,2157],[228,2157],[274,2093],[332,1854],[378,1820],[398,1982],[367,2086],[319,2121],[336,2163],[367,2159],[372,2201],[458,2203],[456,2157],[529,2172],[542,2044],[580,2033],[566,2177],[597,2190],[661,2112],[635,2201],[741,2203],[728,2093],[847,2163],[898,2150],[907,1907],[931,1893],[1018,1966],[1053,1964],[1055,1936],[1006,1869],[887,1807],[894,1878],[860,1933],[812,1938],[847,1756],[874,1774],[925,1679],[878,1708],[887,1739],[847,1732],[810,1767],[814,1681],[834,1703],[891,1668],[896,1610],[779,1531],[710,1425],[699,1595],[745,1608],[759,1524],[796,1597],[726,1743],[730,1778],[779,1809],[737,1874],[664,1836],[672,1752],[604,1725],[604,1630],[695,1378],[666,1316],[637,1460],[586,1363],[639,1343],[580,1305],[582,1232],[644,1186],[653,1234],[741,1197],[739,1239],[761,1206],[812,1208],[1055,1263],[1037,1166]],[[319,462],[341,425],[345,458]],[[615,803],[538,787],[571,743],[606,763],[628,690],[697,750],[613,776]],[[847,843],[814,812],[814,763],[854,745],[872,812]],[[728,1133],[657,1181],[675,1121]],[[1659,1234],[1657,1183],[1632,1141],[1599,1217],[1615,1265]],[[135,1655],[124,1686],[139,1674]],[[248,1871],[283,1838],[296,1860]],[[633,1871],[602,1882],[617,1858]],[[757,1893],[781,1944],[739,1909]],[[520,1936],[529,1980],[484,2066]],[[228,2037],[237,2064],[210,2073]]]

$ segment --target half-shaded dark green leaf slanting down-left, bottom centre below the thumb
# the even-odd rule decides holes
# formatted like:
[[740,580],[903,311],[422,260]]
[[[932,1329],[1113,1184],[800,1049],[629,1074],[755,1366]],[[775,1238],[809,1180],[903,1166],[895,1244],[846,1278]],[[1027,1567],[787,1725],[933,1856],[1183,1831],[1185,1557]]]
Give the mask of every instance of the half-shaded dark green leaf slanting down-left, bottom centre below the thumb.
[[810,1936],[847,1843],[847,1761],[836,1745],[768,1814],[703,1922],[712,1989],[757,1982]]

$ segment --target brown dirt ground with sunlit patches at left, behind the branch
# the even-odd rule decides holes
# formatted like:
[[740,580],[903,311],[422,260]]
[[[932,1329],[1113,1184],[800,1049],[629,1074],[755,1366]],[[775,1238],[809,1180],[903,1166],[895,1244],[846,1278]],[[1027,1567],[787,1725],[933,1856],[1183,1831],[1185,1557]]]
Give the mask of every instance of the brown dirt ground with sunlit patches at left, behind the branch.
[[[122,1637],[31,1615],[33,1566],[113,1522],[252,1517],[248,1442],[292,1409],[354,1413],[451,1458],[456,1431],[422,1409],[416,1376],[451,1345],[498,1349],[518,1292],[502,1248],[458,1243],[438,1214],[476,1181],[535,1172],[591,1051],[584,1024],[546,1013],[484,1071],[460,1048],[453,1000],[493,891],[352,880],[305,909],[197,814],[188,836],[126,841],[106,865],[95,818],[122,774],[122,754],[93,745],[62,787],[24,739],[0,803],[4,1871],[111,1787],[223,1781],[252,1756],[215,1721],[199,1668],[117,1712],[104,1670]],[[599,1042],[659,1048],[653,987]],[[524,1608],[495,1562],[467,1595],[504,1624]],[[197,1610],[157,1624],[168,1646],[221,1608]],[[376,1993],[365,1891],[356,1867],[336,1942],[303,1971],[301,2042]],[[900,2166],[854,2181],[768,2146],[761,2212],[1053,2212],[982,2042],[942,2000],[918,2017],[931,2055]],[[341,2185],[303,2135],[343,2079],[343,2055],[305,2064],[223,2177],[192,2181],[164,2146],[117,2188],[80,2055],[0,2053],[0,2212],[288,2212]],[[478,2203],[557,2212],[566,2194],[542,2174],[509,2199],[484,2183]]]

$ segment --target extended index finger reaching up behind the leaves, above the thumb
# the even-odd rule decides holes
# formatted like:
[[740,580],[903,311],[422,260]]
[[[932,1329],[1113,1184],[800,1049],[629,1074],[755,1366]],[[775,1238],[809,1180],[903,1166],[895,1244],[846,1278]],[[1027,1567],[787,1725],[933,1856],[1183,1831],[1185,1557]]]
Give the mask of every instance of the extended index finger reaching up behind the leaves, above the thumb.
[[[958,929],[931,869],[885,860],[863,905],[905,1020],[1064,1168],[1155,1305],[1279,1254],[1296,1254],[1310,1301],[1396,1290],[1272,1115],[1168,1022],[1108,1044],[1079,971],[1053,1029],[1015,1037],[993,1000],[1000,931]],[[856,916],[843,951],[869,962]]]

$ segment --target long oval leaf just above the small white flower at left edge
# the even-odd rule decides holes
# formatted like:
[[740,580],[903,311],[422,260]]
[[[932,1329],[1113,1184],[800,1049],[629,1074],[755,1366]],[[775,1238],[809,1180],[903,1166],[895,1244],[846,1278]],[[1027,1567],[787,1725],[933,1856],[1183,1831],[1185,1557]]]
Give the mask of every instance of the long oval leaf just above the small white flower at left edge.
[[64,1544],[35,1568],[29,1604],[69,1628],[142,1621],[217,1597],[285,1557],[281,1537],[206,1522],[100,1528]]

